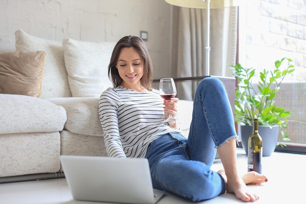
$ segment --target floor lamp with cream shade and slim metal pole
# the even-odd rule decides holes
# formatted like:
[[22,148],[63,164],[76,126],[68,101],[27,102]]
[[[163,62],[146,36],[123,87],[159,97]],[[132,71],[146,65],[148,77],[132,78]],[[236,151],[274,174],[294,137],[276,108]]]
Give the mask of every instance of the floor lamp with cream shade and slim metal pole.
[[205,8],[207,9],[207,38],[206,38],[206,75],[210,75],[210,9],[211,8],[224,8],[231,6],[238,6],[239,0],[165,0],[167,3],[170,3],[179,7],[187,7],[187,8]]

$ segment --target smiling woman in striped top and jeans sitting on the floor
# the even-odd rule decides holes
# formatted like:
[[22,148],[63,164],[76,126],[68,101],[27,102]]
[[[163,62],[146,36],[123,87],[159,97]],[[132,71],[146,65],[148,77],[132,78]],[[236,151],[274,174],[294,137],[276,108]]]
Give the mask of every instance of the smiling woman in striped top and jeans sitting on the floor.
[[[176,103],[163,101],[152,90],[152,62],[144,42],[136,36],[118,41],[109,63],[114,88],[101,94],[99,117],[110,157],[147,158],[153,187],[192,201],[211,199],[226,191],[242,201],[259,197],[245,183],[260,184],[265,176],[249,172],[238,176],[236,131],[223,84],[203,79],[197,87],[188,139],[175,121]],[[212,171],[216,151],[224,170]]]

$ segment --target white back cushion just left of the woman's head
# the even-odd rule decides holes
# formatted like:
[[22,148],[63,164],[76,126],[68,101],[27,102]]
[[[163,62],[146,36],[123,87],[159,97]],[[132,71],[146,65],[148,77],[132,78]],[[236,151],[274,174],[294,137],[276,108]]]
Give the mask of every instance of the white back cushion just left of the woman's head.
[[65,65],[73,97],[100,97],[112,87],[108,66],[115,42],[63,40]]

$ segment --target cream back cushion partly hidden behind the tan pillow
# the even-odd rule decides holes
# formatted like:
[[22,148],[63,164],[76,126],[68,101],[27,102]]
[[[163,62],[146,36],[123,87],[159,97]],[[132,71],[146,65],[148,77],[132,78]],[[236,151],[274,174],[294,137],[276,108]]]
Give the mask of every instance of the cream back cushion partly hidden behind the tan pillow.
[[22,30],[17,30],[15,37],[16,51],[43,50],[47,53],[44,63],[42,92],[39,97],[71,97],[62,43],[34,37]]

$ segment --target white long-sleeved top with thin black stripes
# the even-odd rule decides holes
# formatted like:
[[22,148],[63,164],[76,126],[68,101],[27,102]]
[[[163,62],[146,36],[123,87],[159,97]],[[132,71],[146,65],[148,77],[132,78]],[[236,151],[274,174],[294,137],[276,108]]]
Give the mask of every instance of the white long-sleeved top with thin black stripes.
[[109,88],[101,94],[99,118],[109,157],[143,158],[151,141],[180,132],[164,124],[163,99],[156,90]]

